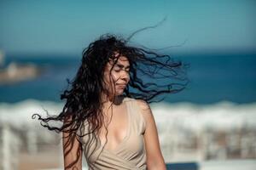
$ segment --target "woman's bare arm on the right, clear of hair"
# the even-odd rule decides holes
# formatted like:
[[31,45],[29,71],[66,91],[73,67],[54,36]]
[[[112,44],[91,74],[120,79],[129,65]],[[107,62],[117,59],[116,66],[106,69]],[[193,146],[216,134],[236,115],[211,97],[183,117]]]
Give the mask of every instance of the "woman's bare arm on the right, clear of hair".
[[140,106],[141,113],[143,114],[146,122],[144,142],[148,169],[166,169],[166,164],[160,150],[157,127],[150,106],[140,99],[137,99],[137,103]]

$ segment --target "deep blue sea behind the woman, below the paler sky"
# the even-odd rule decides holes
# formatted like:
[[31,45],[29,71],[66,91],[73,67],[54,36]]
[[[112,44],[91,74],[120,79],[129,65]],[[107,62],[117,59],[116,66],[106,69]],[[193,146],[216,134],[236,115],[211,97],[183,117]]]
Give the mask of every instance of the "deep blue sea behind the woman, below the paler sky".
[[[170,54],[173,59],[189,63],[189,84],[177,94],[167,94],[167,103],[189,102],[211,105],[229,101],[247,104],[256,101],[256,53],[248,54]],[[37,78],[15,84],[0,85],[0,103],[16,103],[25,99],[61,102],[79,68],[81,57],[67,55],[8,55],[11,62],[44,67]]]

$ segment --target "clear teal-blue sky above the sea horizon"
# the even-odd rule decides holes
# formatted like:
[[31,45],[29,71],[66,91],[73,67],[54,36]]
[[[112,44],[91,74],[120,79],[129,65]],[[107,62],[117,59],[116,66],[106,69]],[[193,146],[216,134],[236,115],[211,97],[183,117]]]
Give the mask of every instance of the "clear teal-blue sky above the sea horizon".
[[5,1],[0,0],[0,48],[12,53],[81,54],[105,33],[128,36],[148,48],[190,51],[256,49],[256,1]]

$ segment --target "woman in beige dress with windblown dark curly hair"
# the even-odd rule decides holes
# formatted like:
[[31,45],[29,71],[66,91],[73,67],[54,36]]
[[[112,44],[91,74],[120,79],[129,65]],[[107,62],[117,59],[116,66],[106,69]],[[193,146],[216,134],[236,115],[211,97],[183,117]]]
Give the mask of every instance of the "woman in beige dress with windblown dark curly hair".
[[82,169],[83,153],[89,169],[166,169],[148,104],[185,87],[170,82],[186,80],[184,65],[132,47],[129,39],[105,35],[91,42],[71,88],[61,94],[67,99],[61,114],[38,118],[62,132],[65,169]]

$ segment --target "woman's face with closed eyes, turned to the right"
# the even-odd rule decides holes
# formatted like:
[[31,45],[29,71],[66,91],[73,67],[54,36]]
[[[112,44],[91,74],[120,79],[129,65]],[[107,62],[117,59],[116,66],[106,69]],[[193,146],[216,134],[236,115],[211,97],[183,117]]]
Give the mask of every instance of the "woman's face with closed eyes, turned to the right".
[[[110,72],[112,67],[113,69]],[[130,81],[129,71],[130,63],[125,56],[120,55],[115,64],[113,60],[108,62],[104,71],[104,81],[110,95],[114,94],[117,96],[123,94],[126,85]]]

